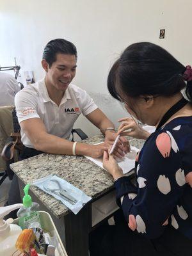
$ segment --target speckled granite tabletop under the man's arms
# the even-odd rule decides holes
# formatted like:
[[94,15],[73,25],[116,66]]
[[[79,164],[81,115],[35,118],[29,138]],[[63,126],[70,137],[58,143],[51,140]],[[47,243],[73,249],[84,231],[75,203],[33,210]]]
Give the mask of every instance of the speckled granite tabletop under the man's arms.
[[[103,140],[104,137],[98,135],[83,142],[95,144]],[[132,138],[129,141],[132,146],[138,148],[141,148],[144,142]],[[10,167],[24,184],[31,183],[49,174],[56,174],[92,198],[97,198],[97,196],[113,188],[111,175],[84,156],[40,154],[13,163]],[[68,208],[56,198],[35,186],[31,186],[30,189],[57,218],[61,218],[61,216],[68,213]]]

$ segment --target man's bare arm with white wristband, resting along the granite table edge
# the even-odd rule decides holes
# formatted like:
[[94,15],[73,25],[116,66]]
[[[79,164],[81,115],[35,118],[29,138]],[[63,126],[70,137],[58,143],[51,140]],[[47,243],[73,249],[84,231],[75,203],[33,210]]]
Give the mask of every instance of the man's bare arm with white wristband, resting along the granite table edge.
[[[49,134],[40,118],[29,118],[20,122],[26,136],[36,150],[51,154],[72,155],[73,142]],[[100,157],[104,150],[108,150],[109,143],[102,143],[97,146],[85,143],[77,143],[76,154],[92,157]]]

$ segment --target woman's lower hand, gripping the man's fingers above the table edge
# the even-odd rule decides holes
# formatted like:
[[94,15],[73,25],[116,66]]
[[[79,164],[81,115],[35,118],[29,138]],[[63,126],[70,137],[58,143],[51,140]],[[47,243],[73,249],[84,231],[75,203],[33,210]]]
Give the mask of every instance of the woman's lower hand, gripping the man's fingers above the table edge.
[[108,154],[108,151],[104,151],[102,165],[113,176],[113,179],[124,176],[122,168],[118,166],[113,155]]

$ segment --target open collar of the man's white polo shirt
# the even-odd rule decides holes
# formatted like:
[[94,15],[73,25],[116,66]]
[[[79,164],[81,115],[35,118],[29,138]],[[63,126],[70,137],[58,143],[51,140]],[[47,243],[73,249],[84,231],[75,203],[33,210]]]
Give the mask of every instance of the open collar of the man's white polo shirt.
[[[39,81],[39,90],[42,93],[42,97],[44,99],[44,102],[52,101],[51,98],[49,97],[48,92],[47,92],[47,87],[46,87],[46,84],[45,84],[45,78]],[[65,91],[65,94],[64,94],[63,98],[61,99],[60,105],[65,103],[68,99],[71,99],[69,90],[70,90],[70,88],[67,88],[67,90]]]

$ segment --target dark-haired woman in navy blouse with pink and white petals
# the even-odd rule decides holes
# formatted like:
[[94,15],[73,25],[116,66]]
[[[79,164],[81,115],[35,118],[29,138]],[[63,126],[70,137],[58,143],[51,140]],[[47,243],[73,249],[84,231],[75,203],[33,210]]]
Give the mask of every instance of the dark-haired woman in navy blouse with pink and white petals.
[[[185,87],[189,101],[180,92]],[[191,67],[158,45],[132,44],[111,68],[108,89],[131,116],[156,126],[156,131],[142,136],[138,130],[147,140],[136,157],[136,186],[104,152],[103,165],[115,180],[126,224],[122,220],[111,228],[104,238],[107,246],[101,246],[103,255],[191,255]],[[130,135],[127,128],[129,120],[118,133]]]

